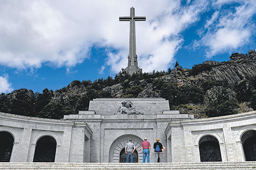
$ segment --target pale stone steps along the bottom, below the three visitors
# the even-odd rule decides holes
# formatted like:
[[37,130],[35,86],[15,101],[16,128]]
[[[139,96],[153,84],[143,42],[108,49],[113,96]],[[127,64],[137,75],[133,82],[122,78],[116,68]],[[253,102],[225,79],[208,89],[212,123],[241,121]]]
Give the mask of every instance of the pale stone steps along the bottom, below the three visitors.
[[197,170],[247,170],[255,169],[256,162],[186,162],[186,163],[13,163],[0,162],[0,169],[27,170],[27,169],[197,169]]

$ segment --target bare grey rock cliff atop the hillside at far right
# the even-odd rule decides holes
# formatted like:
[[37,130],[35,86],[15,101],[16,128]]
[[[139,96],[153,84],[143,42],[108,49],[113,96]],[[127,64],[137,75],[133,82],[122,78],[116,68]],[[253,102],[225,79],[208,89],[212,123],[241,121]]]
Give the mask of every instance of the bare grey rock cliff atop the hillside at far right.
[[234,53],[227,62],[204,61],[201,65],[195,65],[192,69],[196,75],[187,77],[188,82],[202,83],[212,79],[216,81],[226,80],[229,84],[235,84],[247,76],[256,75],[256,53],[249,51],[249,55]]

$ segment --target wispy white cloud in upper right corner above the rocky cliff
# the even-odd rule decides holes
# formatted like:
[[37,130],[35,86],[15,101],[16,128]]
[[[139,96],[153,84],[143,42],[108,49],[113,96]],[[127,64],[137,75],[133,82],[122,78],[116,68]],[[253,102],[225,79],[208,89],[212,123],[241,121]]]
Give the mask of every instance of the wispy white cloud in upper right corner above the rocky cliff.
[[[236,3],[236,6],[230,10],[222,10],[221,5],[227,3],[229,5]],[[194,41],[193,46],[194,48],[208,47],[205,54],[208,59],[216,54],[246,45],[249,38],[255,34],[255,23],[252,20],[256,12],[254,0],[219,0],[213,5],[218,8],[218,11],[215,11],[212,17],[205,22],[204,29],[198,31],[201,40]]]

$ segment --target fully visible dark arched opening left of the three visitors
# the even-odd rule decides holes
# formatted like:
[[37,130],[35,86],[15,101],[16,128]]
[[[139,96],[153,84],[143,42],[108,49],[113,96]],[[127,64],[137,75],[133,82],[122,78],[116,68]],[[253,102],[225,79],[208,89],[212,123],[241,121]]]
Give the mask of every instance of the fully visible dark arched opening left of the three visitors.
[[56,144],[56,140],[53,137],[41,137],[36,143],[34,162],[54,162]]

